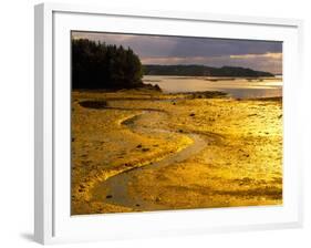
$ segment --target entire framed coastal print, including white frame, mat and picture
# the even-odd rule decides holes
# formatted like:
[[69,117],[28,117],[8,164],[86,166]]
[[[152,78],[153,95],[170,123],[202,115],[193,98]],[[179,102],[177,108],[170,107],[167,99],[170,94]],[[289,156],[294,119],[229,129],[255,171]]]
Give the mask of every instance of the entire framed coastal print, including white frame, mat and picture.
[[299,227],[300,20],[35,7],[35,240]]

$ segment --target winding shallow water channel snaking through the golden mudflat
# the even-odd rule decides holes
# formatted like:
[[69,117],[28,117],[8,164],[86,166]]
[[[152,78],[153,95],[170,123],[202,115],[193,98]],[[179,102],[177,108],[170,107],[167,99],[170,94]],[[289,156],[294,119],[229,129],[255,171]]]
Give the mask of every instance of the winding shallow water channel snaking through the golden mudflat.
[[[136,114],[134,116],[131,116],[126,120],[124,120],[121,125],[126,126],[131,132],[138,133],[139,135],[144,135],[147,133],[175,133],[177,134],[177,131],[172,130],[164,130],[164,128],[152,128],[148,127],[142,127],[138,124],[136,124],[139,118],[142,117],[148,117],[153,112],[157,112],[162,118],[167,118],[167,113],[165,111],[156,110],[156,108],[122,108],[122,107],[112,107],[106,106],[104,107],[106,111],[110,110],[117,110],[117,111],[142,111],[139,114]],[[152,116],[151,116],[152,120]],[[163,157],[159,161],[151,162],[149,164],[143,166],[143,167],[134,167],[128,170],[125,170],[123,173],[120,173],[115,176],[112,176],[107,178],[106,180],[100,183],[97,186],[93,189],[93,195],[99,196],[102,193],[105,194],[102,197],[100,197],[103,202],[107,204],[129,207],[133,210],[160,210],[165,209],[165,206],[159,205],[156,200],[155,202],[146,202],[138,195],[135,195],[135,198],[133,198],[128,194],[128,185],[131,182],[135,180],[136,175],[144,173],[145,169],[157,169],[160,167],[166,167],[175,163],[180,163],[183,161],[186,161],[189,157],[193,157],[194,155],[201,152],[208,144],[208,141],[214,141],[217,137],[215,134],[210,135],[201,135],[197,133],[190,133],[186,132],[183,133],[184,135],[187,135],[189,138],[191,138],[193,143],[189,144],[187,147],[169,154],[165,157]],[[180,135],[180,133],[179,133]]]

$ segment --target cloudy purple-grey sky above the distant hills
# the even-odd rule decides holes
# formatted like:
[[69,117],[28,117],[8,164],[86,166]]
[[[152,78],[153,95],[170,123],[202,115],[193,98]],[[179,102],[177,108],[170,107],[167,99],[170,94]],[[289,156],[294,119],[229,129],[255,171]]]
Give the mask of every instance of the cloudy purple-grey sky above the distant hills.
[[73,39],[129,46],[143,64],[242,66],[282,74],[282,42],[193,37],[72,32]]

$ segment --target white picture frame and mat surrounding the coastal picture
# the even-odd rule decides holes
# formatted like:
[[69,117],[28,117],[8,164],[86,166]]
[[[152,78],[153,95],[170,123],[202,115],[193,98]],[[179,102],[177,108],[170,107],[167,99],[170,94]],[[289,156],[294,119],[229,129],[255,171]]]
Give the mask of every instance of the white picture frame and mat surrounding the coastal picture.
[[[302,137],[296,120],[301,91],[301,20],[211,13],[35,6],[34,237],[41,244],[193,235],[302,226]],[[104,24],[103,24],[104,23]],[[147,27],[147,28],[146,28]],[[71,30],[283,41],[282,206],[113,215],[70,215]],[[292,82],[296,81],[293,84]],[[135,226],[135,228],[133,228]]]

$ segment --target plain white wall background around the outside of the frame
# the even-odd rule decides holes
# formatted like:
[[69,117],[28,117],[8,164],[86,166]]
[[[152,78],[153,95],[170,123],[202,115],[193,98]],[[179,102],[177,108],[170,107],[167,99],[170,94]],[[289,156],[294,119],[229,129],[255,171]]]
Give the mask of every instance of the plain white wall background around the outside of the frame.
[[[33,230],[33,4],[3,0],[0,8],[0,247],[35,247]],[[83,0],[62,2],[84,3]],[[311,6],[308,0],[89,0],[87,4],[304,19],[303,229],[215,234],[163,239],[81,244],[65,247],[311,247]],[[308,80],[307,80],[308,79]]]

